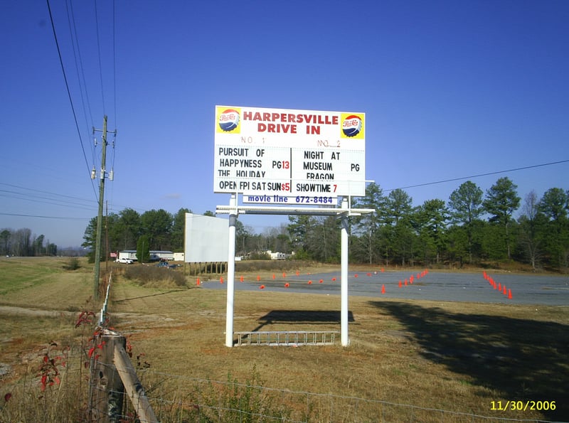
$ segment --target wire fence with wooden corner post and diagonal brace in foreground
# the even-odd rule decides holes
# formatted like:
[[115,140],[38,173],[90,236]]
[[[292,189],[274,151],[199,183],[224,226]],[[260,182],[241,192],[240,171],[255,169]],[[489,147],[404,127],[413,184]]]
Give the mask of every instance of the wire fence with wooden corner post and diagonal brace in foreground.
[[[97,332],[100,333],[105,332],[107,324],[105,316],[111,284],[112,274],[97,323]],[[111,335],[117,336],[117,333],[112,332]],[[231,380],[230,375],[227,381],[222,382],[164,373],[151,370],[146,363],[141,363],[139,357],[133,360],[134,364],[125,364],[124,361],[129,360],[124,355],[122,341],[111,346],[106,341],[103,343],[101,338],[98,341],[95,338],[89,353],[88,392],[80,392],[81,381],[86,376],[82,371],[85,351],[70,348],[66,357],[68,365],[58,375],[61,383],[56,386],[46,386],[44,383],[39,397],[41,401],[38,401],[38,386],[41,386],[38,375],[23,378],[11,392],[27,398],[26,403],[29,401],[34,407],[26,409],[26,418],[23,420],[22,414],[11,414],[8,407],[0,407],[0,422],[13,421],[11,417],[18,415],[20,421],[43,419],[59,422],[551,423],[549,420],[484,416],[384,400],[265,387],[255,374],[255,369],[252,380],[246,383]],[[104,353],[105,348],[112,348],[112,351]],[[122,352],[120,348],[123,348]],[[109,382],[112,378],[127,382],[115,389],[117,385]],[[110,402],[107,401],[109,398],[112,399]],[[74,410],[68,413],[67,419],[60,414],[62,407]]]

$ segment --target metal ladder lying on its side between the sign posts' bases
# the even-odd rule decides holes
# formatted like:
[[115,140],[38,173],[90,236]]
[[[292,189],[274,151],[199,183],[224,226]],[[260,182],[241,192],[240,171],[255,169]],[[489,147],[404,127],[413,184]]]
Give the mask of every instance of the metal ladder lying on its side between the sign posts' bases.
[[339,331],[252,331],[235,332],[236,346],[333,345]]

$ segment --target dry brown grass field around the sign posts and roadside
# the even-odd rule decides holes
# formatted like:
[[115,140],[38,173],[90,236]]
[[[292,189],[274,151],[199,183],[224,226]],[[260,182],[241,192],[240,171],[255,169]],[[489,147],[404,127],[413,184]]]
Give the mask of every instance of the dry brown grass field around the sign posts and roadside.
[[[83,309],[89,304],[92,284],[89,272],[83,270],[73,282],[59,273],[41,284],[12,289],[0,296],[0,304]],[[339,331],[334,318],[339,309],[339,296],[237,291],[234,330]],[[156,374],[220,381],[230,374],[244,382],[255,368],[266,387],[491,417],[569,419],[568,307],[351,297],[349,309],[353,321],[347,348],[227,348],[225,291],[156,289],[118,278],[109,307],[112,326],[128,336],[134,354],[142,354]],[[280,321],[264,318],[275,311]],[[306,314],[317,318],[307,319]],[[73,316],[65,313],[46,317],[0,308],[0,316],[6,322],[0,328],[0,362],[16,363],[16,368],[23,366],[24,351],[29,356],[48,341],[79,337],[70,327]],[[146,376],[147,381],[155,384],[156,374]],[[491,410],[492,401],[508,400],[555,401],[557,409]],[[319,411],[313,413],[317,417]],[[390,417],[408,420],[403,415]]]

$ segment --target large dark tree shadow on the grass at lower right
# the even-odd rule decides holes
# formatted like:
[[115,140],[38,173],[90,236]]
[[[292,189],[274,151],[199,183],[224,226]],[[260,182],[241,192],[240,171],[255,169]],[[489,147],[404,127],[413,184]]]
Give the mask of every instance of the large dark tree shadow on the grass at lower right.
[[569,421],[569,326],[459,314],[404,302],[370,301],[403,323],[427,359],[506,400],[555,401],[548,419]]

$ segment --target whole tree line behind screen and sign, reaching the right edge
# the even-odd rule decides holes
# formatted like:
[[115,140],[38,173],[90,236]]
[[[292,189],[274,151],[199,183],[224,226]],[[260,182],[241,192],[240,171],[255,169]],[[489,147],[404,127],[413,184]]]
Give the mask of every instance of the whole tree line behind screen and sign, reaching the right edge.
[[[533,269],[565,269],[569,257],[569,191],[551,188],[538,198],[531,192],[521,200],[509,178],[499,178],[486,193],[467,181],[447,201],[426,200],[413,207],[402,189],[384,195],[371,183],[366,196],[353,207],[376,213],[350,220],[350,262],[400,266],[479,264],[516,261]],[[142,214],[126,208],[104,220],[107,252],[134,250],[184,251],[185,215],[166,210]],[[517,213],[517,214],[516,214]],[[206,212],[204,215],[215,215]],[[83,247],[95,250],[97,218],[92,218]],[[247,258],[267,258],[267,250],[294,253],[294,258],[319,262],[340,261],[340,222],[334,216],[291,215],[288,224],[255,234],[237,220],[235,253]]]

